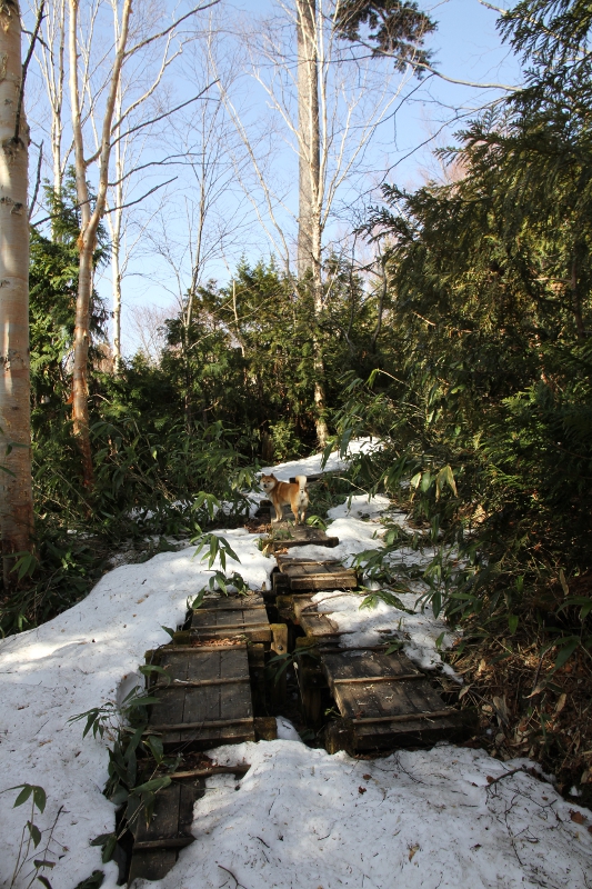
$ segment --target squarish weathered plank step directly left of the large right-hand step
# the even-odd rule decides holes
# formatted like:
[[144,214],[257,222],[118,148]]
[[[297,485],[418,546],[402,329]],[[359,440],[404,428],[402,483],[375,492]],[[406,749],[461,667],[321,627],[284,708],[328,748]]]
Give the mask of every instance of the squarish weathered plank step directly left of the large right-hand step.
[[159,661],[172,681],[167,686],[159,675],[154,682],[159,703],[151,708],[148,729],[167,749],[254,740],[245,646],[164,646]]

